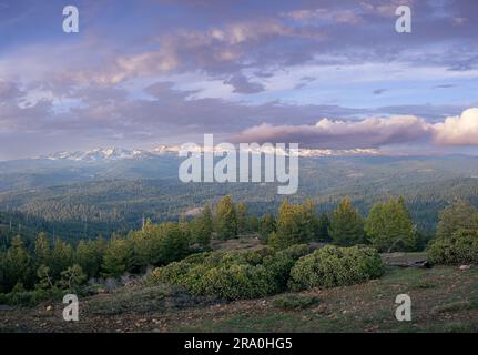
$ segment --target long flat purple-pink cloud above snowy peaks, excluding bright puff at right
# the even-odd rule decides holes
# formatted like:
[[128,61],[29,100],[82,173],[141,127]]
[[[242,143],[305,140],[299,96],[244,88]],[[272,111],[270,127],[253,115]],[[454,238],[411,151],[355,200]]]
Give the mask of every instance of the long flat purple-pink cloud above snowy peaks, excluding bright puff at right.
[[233,141],[299,143],[311,148],[352,149],[377,148],[393,143],[417,141],[428,134],[425,121],[414,115],[389,119],[367,118],[362,121],[322,119],[315,125],[261,124],[244,130]]

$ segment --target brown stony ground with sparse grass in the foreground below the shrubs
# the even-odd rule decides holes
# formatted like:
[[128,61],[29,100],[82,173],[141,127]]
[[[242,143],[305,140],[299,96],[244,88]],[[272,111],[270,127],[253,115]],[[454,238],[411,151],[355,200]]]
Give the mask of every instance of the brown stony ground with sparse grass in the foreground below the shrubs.
[[[417,255],[413,255],[416,257]],[[400,256],[403,257],[403,255]],[[395,320],[395,297],[413,300],[413,322]],[[214,302],[171,287],[123,287],[80,304],[80,322],[62,321],[62,304],[47,311],[0,311],[0,331],[22,332],[477,332],[478,270],[387,268],[366,284],[311,290],[306,308],[277,307],[277,295],[263,300]]]

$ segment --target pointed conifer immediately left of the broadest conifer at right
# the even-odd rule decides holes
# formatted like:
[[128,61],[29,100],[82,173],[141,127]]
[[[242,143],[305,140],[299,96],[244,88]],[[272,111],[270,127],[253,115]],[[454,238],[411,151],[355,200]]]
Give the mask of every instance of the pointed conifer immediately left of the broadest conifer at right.
[[364,243],[364,221],[348,197],[343,199],[334,211],[329,233],[337,245]]

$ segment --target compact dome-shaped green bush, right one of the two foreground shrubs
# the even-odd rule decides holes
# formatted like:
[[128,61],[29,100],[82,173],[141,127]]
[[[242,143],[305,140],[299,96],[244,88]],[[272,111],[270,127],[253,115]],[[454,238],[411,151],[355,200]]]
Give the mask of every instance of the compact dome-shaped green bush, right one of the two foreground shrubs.
[[294,291],[312,287],[334,287],[377,278],[384,263],[370,247],[327,245],[301,257],[291,271],[289,287]]

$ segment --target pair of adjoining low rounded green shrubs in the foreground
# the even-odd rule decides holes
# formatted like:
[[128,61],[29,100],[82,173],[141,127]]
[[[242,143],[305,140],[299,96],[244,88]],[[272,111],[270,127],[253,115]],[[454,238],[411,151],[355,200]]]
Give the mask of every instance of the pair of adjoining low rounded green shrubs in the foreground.
[[150,283],[182,285],[196,295],[224,300],[257,298],[315,286],[339,286],[379,277],[380,256],[369,247],[306,245],[283,251],[202,253],[159,267]]

